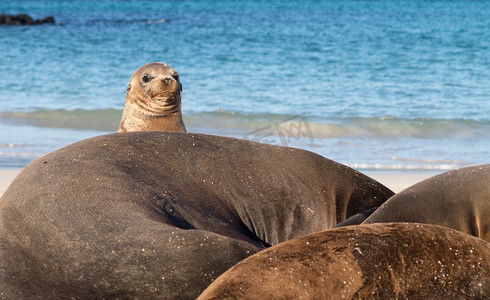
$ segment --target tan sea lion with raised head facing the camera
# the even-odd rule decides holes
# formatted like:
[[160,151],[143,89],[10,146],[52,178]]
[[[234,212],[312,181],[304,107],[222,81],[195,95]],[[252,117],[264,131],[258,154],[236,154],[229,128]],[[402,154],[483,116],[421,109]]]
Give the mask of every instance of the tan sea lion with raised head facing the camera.
[[186,132],[182,120],[179,74],[164,63],[136,70],[129,81],[119,132]]

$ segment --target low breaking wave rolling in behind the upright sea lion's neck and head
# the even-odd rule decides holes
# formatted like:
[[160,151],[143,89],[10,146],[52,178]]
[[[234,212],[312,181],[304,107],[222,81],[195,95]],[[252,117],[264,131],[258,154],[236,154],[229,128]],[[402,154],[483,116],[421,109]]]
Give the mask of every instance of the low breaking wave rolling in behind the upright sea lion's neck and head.
[[[70,128],[76,130],[116,131],[122,111],[99,110],[34,110],[0,112],[0,121],[36,127]],[[374,118],[332,118],[320,120],[304,115],[243,114],[230,111],[186,113],[184,122],[189,131],[247,135],[281,130],[308,130],[315,139],[328,138],[399,138],[419,139],[489,138],[490,122],[467,119],[400,119],[382,116]]]

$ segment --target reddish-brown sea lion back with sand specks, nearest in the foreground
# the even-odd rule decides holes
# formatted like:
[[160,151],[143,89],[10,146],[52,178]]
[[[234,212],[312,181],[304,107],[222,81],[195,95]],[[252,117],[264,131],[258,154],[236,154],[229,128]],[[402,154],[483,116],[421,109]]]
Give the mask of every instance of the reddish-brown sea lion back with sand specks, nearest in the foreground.
[[314,233],[256,253],[205,299],[485,299],[490,244],[447,227],[389,223]]

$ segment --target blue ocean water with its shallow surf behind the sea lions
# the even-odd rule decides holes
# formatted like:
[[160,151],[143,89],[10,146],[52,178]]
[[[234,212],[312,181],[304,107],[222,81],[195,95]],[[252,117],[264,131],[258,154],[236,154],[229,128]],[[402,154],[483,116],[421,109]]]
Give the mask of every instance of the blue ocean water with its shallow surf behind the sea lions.
[[117,130],[160,61],[189,132],[308,149],[361,171],[489,163],[488,1],[0,1],[0,168]]

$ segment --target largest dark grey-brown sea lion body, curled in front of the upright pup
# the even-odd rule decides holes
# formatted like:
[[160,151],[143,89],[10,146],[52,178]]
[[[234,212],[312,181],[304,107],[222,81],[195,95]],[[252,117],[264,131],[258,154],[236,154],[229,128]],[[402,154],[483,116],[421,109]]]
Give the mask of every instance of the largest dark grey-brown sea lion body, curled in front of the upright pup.
[[28,165],[0,200],[6,298],[195,298],[269,245],[393,192],[314,153],[165,132],[99,136]]

